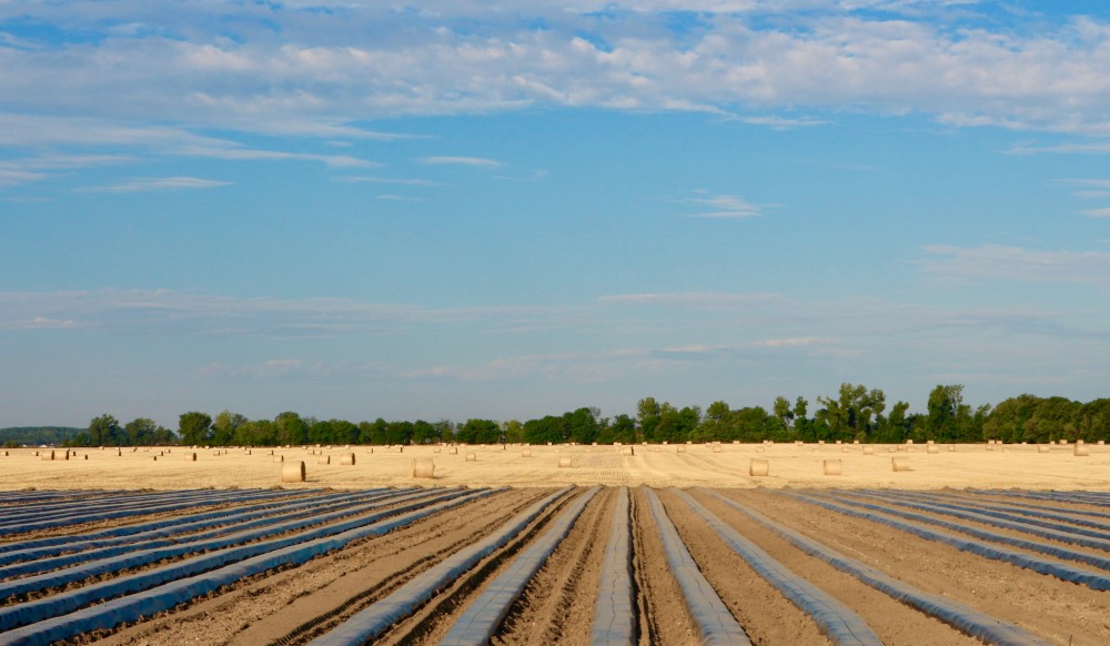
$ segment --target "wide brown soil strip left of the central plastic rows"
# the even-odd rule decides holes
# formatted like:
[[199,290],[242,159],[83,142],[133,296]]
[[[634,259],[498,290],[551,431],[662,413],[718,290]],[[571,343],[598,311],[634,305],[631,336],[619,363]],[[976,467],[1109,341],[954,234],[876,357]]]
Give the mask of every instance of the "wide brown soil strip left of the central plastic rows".
[[[385,594],[438,554],[480,539],[491,518],[507,519],[551,489],[507,489],[313,559],[240,582],[99,644],[264,644],[367,589]],[[431,561],[431,563],[428,562]],[[377,586],[375,588],[375,586]],[[363,599],[370,603],[370,599]],[[352,613],[354,610],[351,610]],[[280,627],[279,627],[280,626]],[[259,636],[243,642],[244,636]],[[305,642],[307,638],[304,639]]]

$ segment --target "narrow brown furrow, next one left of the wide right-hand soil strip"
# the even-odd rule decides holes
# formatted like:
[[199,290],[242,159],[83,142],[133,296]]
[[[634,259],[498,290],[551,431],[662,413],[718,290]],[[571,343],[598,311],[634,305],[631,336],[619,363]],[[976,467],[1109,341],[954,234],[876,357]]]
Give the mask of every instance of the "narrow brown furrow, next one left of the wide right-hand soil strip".
[[[669,494],[669,492],[667,493]],[[882,639],[884,644],[909,646],[979,643],[978,639],[972,639],[947,624],[902,605],[851,575],[839,572],[824,561],[809,556],[785,539],[764,529],[747,516],[712,496],[705,495],[705,492],[695,491],[692,492],[692,495],[730,527],[763,548],[771,558],[855,610]],[[683,505],[682,501],[675,498],[673,494],[667,497],[667,502],[668,511],[674,506]],[[725,548],[727,549],[727,547]],[[706,566],[713,564],[712,561],[699,561],[699,563],[705,563]]]

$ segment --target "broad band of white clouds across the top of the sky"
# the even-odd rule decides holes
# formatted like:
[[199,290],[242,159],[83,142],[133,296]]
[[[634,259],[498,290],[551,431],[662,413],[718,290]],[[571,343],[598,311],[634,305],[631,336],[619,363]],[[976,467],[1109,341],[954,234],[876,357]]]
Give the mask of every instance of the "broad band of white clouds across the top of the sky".
[[[537,105],[697,110],[779,129],[841,110],[917,112],[955,127],[1110,134],[1104,21],[1058,12],[1028,29],[970,1],[7,7],[0,19],[56,29],[0,37],[6,109],[65,127],[0,127],[0,143],[77,144],[89,121],[142,129],[117,132],[118,144],[216,131],[391,141],[413,135],[359,124]],[[673,27],[683,10],[696,12],[697,29]]]

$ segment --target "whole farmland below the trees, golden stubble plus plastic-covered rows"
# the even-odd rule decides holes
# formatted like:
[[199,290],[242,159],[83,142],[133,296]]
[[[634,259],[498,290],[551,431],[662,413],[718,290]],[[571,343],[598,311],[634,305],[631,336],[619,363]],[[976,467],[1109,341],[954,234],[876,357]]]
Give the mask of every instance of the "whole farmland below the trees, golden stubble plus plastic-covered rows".
[[0,644],[1110,643],[1106,447],[660,448],[13,454]]

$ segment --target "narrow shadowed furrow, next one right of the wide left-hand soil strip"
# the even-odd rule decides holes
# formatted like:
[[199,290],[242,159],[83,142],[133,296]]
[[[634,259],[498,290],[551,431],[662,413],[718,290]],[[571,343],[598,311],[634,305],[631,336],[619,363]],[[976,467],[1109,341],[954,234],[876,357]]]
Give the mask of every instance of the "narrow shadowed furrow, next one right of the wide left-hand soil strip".
[[[482,559],[482,562],[460,577],[448,589],[442,591],[423,608],[420,608],[407,619],[397,623],[392,630],[379,637],[375,644],[404,644],[406,646],[438,644],[455,620],[466,609],[467,605],[482,594],[490,582],[504,572],[521,551],[534,543],[553,518],[557,517],[572,501],[583,495],[586,491],[586,487],[576,487],[571,495],[564,496],[547,507],[538,518],[505,547]],[[597,499],[595,496],[591,505],[595,505],[596,503]],[[575,526],[577,526],[577,523]]]

